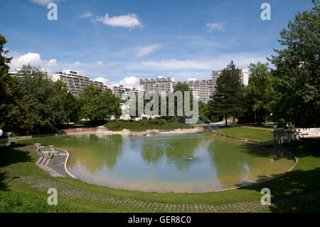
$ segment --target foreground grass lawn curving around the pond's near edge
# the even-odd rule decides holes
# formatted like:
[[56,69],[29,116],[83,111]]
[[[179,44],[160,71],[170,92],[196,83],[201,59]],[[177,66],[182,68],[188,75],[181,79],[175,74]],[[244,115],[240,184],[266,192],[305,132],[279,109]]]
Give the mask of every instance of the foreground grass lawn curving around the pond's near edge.
[[[228,128],[225,128],[225,130],[228,130]],[[258,131],[264,132],[263,130]],[[249,132],[246,133],[250,134]],[[320,189],[319,145],[319,142],[299,142],[287,147],[299,159],[299,162],[293,171],[277,179],[241,189],[194,194],[127,191],[87,184],[79,179],[53,178],[34,164],[38,159],[38,155],[33,152],[32,147],[1,147],[0,145],[0,212],[142,212],[139,208],[127,208],[124,205],[97,205],[94,202],[80,204],[75,199],[65,198],[58,200],[59,206],[48,206],[46,203],[48,194],[28,186],[21,180],[23,176],[37,176],[57,183],[68,184],[78,189],[110,196],[169,204],[217,205],[234,204],[243,201],[260,201],[262,196],[260,194],[261,189],[269,188],[272,193],[272,203],[277,208],[277,210],[274,210],[274,207],[270,208],[270,212],[319,212],[319,199],[316,201],[303,199],[302,201],[296,201],[292,206],[286,207],[282,207],[276,202],[276,199]]]

